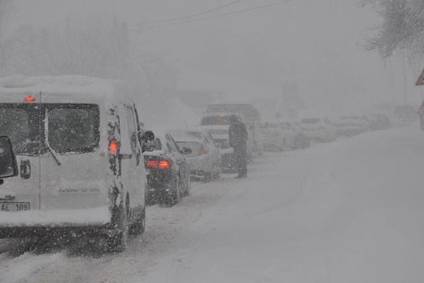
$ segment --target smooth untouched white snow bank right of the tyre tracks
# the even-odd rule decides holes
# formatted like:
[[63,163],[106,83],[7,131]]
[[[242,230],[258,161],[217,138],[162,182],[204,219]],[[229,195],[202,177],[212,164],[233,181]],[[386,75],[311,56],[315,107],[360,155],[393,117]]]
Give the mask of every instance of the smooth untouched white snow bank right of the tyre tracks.
[[421,282],[424,132],[267,156],[130,282]]

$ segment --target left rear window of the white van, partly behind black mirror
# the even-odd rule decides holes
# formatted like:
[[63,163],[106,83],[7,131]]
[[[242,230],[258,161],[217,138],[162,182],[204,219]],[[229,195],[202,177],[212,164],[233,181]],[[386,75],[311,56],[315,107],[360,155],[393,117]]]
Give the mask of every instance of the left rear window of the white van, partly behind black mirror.
[[0,134],[10,137],[13,151],[20,155],[37,155],[40,141],[38,105],[0,103]]

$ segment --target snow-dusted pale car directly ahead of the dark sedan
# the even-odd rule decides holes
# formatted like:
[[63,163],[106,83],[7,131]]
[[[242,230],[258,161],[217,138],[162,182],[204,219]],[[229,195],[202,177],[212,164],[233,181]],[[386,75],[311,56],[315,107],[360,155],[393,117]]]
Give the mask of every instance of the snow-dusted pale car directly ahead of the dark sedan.
[[180,149],[190,149],[184,156],[192,175],[206,180],[220,177],[220,151],[210,133],[204,129],[179,129],[167,131]]

